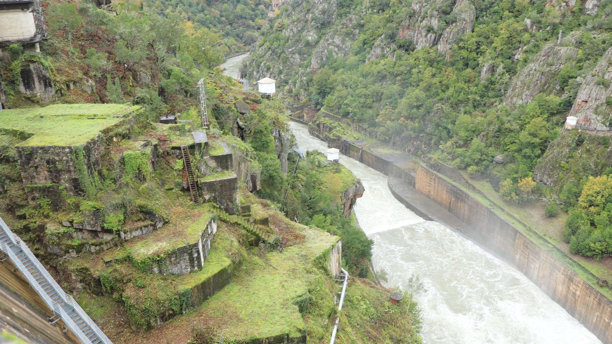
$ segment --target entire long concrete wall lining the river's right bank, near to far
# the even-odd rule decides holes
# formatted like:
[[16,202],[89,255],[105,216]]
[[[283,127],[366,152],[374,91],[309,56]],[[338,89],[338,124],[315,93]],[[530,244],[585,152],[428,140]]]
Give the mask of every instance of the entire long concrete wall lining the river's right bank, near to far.
[[415,175],[396,165],[398,161],[330,137],[331,128],[321,122],[308,125],[308,132],[327,141],[329,147],[338,148],[343,154],[388,176],[395,198],[424,219],[438,220],[427,209],[419,209],[425,203],[402,197],[392,184],[405,183],[435,201],[457,217],[457,223],[465,223],[461,225],[463,234],[513,264],[603,343],[612,344],[612,301],[469,193],[426,168],[419,168]]

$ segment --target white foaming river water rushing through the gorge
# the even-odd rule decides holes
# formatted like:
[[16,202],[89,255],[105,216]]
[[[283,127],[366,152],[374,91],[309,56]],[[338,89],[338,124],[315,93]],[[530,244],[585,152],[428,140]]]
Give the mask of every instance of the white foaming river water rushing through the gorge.
[[[291,122],[291,129],[300,148],[327,149],[305,125]],[[601,343],[521,272],[395,200],[384,174],[344,155],[340,162],[364,184],[354,211],[386,285],[401,286],[413,273],[424,282],[417,296],[424,343]]]

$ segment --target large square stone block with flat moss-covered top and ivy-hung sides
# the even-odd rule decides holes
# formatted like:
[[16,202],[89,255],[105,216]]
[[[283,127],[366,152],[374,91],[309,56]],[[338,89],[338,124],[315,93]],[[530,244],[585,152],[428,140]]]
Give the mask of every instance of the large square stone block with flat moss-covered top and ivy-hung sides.
[[57,184],[69,194],[97,180],[106,142],[132,132],[140,107],[119,104],[61,104],[0,113],[0,141],[17,150],[24,184]]

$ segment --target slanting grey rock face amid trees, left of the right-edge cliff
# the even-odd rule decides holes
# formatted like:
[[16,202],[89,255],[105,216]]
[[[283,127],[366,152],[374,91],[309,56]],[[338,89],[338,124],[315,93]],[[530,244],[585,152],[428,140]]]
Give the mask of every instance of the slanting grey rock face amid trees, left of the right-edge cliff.
[[[563,42],[562,42],[563,44]],[[578,49],[562,47],[548,43],[542,48],[534,61],[526,65],[516,77],[506,92],[505,105],[520,105],[531,102],[540,92],[548,94],[559,93],[557,74],[571,59],[575,59]],[[482,74],[481,74],[482,78]]]

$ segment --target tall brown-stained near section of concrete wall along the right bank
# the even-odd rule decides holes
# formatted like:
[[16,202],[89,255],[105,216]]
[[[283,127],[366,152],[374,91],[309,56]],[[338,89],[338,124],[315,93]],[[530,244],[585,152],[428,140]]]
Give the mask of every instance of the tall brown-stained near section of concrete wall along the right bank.
[[469,193],[425,168],[416,189],[469,225],[464,233],[501,255],[603,343],[612,343],[612,301]]

